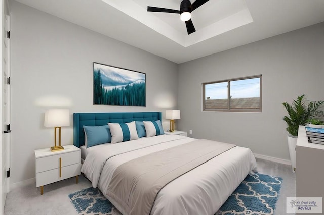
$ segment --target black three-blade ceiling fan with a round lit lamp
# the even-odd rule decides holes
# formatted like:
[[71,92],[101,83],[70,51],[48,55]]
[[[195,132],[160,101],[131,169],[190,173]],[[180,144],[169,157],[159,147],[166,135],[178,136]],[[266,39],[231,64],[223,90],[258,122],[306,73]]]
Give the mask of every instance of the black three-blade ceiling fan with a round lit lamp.
[[194,3],[191,4],[190,0],[183,0],[180,4],[180,11],[168,8],[156,8],[151,6],[147,6],[147,11],[180,14],[180,19],[186,22],[187,32],[189,35],[196,31],[191,21],[191,12],[196,10],[198,7],[200,7],[208,1],[209,0],[196,0]]

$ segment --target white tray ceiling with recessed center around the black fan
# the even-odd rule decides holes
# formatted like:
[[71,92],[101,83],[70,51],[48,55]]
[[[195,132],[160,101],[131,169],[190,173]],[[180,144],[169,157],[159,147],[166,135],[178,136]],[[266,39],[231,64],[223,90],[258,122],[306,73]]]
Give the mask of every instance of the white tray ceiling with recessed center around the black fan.
[[175,63],[324,21],[322,0],[210,0],[192,12],[196,32],[187,35],[178,14],[147,12],[179,10],[181,0],[17,1]]

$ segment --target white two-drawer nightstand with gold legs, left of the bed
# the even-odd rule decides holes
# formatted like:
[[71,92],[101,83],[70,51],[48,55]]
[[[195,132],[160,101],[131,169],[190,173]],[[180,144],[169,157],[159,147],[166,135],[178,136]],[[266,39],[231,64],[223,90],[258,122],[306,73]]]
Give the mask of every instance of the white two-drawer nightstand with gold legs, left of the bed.
[[74,145],[63,146],[64,150],[52,152],[50,148],[35,150],[36,187],[41,187],[81,174],[81,150]]

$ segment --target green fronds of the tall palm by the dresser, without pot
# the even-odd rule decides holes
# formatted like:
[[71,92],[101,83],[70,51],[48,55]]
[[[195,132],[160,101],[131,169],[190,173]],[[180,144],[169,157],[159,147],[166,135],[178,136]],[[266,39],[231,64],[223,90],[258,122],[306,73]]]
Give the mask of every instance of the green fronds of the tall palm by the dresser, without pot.
[[320,110],[324,105],[324,101],[309,101],[305,99],[305,95],[298,96],[292,104],[282,103],[285,106],[288,116],[283,119],[287,123],[286,130],[294,137],[298,135],[299,125],[305,125],[312,117],[324,116],[324,111]]

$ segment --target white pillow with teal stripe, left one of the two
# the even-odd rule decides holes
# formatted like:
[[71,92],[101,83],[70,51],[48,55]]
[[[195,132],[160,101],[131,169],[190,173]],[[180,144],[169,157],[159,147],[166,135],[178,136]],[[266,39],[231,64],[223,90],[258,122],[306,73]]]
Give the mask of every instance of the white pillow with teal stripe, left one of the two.
[[138,139],[135,121],[130,123],[108,123],[111,133],[111,143]]

